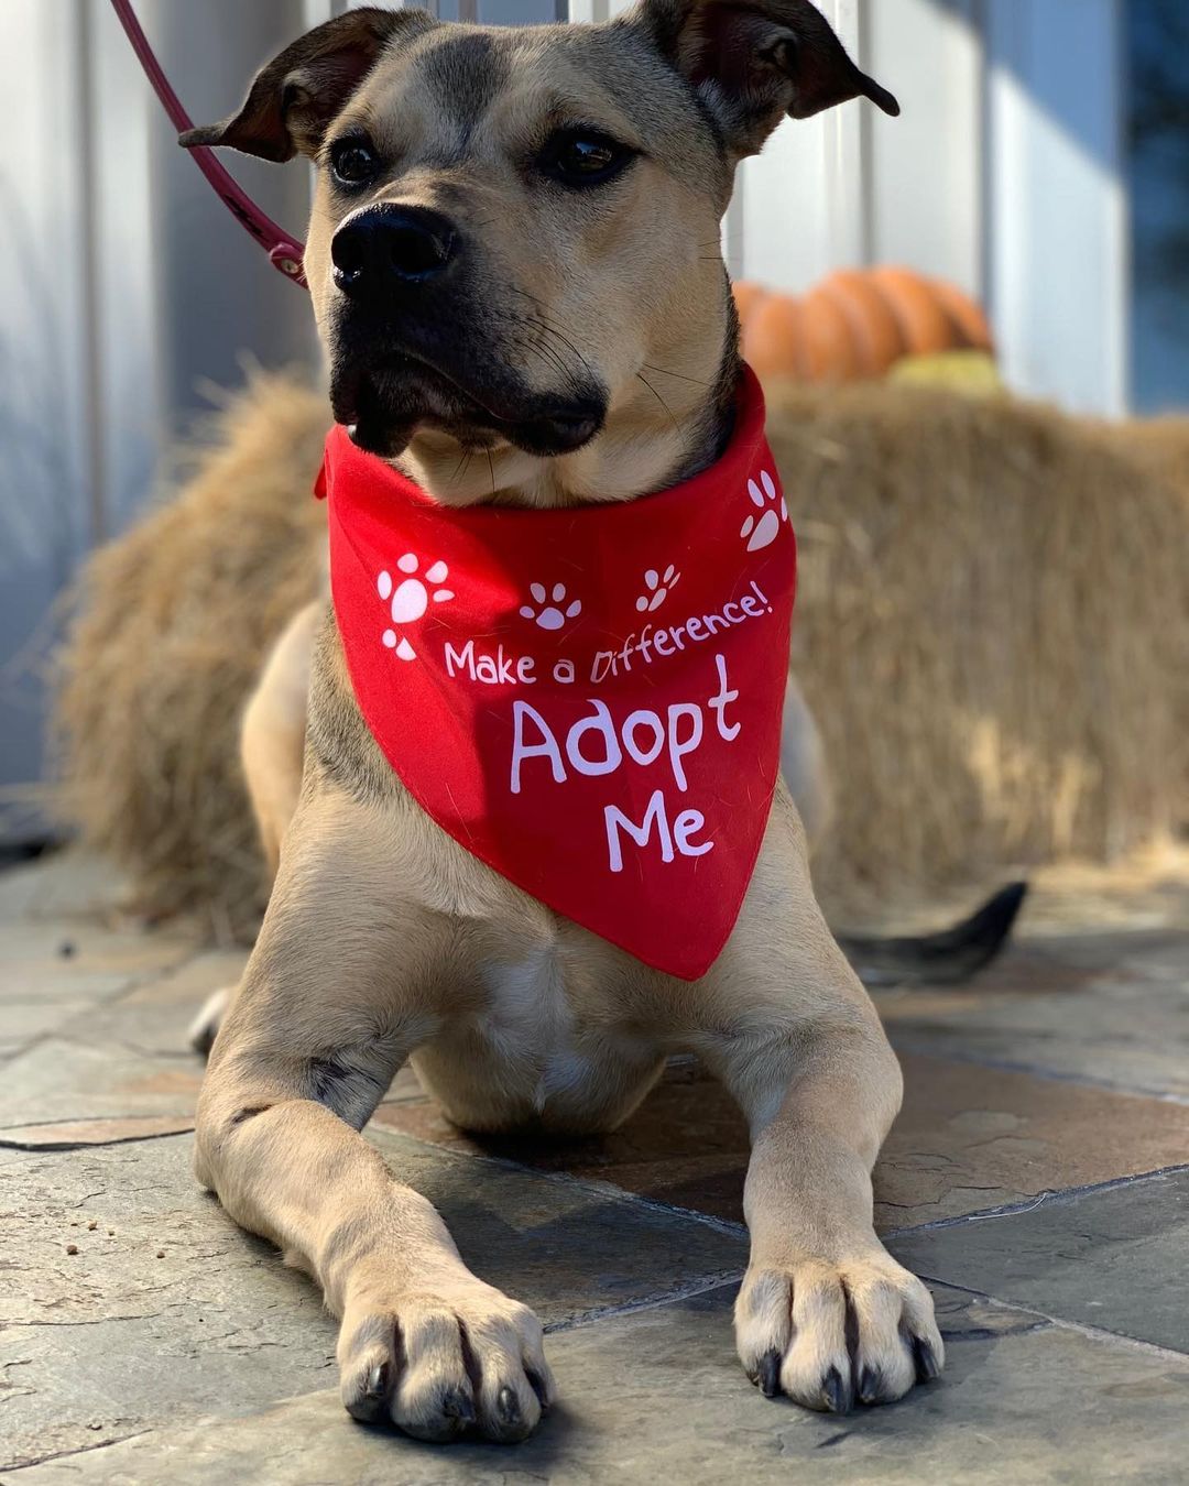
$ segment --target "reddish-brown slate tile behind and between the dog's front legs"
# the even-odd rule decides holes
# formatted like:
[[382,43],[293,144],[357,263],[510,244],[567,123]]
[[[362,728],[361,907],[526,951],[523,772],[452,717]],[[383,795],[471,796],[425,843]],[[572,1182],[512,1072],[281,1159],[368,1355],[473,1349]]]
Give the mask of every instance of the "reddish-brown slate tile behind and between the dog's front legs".
[[[875,1226],[884,1233],[1189,1161],[1189,1103],[913,1054],[901,1062],[904,1109],[875,1168]],[[477,1140],[416,1095],[380,1109],[376,1123],[743,1221],[748,1126],[696,1067],[667,1070],[644,1109],[600,1141]]]

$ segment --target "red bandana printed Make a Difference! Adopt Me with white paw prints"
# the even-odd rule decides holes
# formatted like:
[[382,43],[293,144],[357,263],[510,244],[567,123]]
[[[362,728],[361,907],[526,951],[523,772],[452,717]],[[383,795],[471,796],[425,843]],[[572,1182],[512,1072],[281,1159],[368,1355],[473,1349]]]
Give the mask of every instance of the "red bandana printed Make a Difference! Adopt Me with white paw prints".
[[406,789],[559,914],[703,975],[771,805],[797,574],[754,374],[718,464],[638,501],[450,510],[343,428],[318,493],[355,697]]

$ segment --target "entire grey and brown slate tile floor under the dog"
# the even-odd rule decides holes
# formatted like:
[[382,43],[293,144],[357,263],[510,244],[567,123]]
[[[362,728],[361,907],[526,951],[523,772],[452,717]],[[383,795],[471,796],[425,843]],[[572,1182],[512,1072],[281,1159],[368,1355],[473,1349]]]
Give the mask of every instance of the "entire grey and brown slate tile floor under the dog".
[[831,1418],[730,1330],[746,1132],[673,1067],[605,1141],[479,1144],[409,1073],[369,1134],[551,1333],[528,1444],[352,1424],[311,1284],[190,1177],[184,1030],[236,951],[120,926],[108,874],[0,874],[0,1482],[1189,1480],[1189,872],[1033,896],[976,984],[878,993],[908,1095],[875,1177],[941,1382]]

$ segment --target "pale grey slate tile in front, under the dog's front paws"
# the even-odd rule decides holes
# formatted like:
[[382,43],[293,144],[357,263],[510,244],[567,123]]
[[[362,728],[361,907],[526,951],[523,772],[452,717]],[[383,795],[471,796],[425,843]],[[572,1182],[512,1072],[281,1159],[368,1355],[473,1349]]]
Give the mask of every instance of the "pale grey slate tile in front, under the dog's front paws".
[[[1189,1361],[1116,1348],[1026,1311],[938,1293],[945,1380],[846,1419],[740,1389],[731,1290],[553,1340],[565,1407],[513,1449],[446,1449],[340,1418],[336,1395],[49,1461],[15,1480],[195,1486],[351,1482],[904,1483],[1176,1482],[1189,1447]],[[1043,1391],[1037,1383],[1043,1379]]]

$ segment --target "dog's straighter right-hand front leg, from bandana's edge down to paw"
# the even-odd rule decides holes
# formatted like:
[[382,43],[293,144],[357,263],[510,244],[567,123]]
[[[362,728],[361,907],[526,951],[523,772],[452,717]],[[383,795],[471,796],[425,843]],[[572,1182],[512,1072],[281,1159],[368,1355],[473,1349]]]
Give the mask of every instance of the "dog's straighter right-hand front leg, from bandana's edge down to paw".
[[844,1413],[936,1376],[944,1349],[929,1291],[872,1226],[871,1168],[899,1109],[899,1064],[813,899],[785,796],[774,816],[707,985],[718,1030],[703,1045],[752,1126],[736,1340],[764,1392]]

